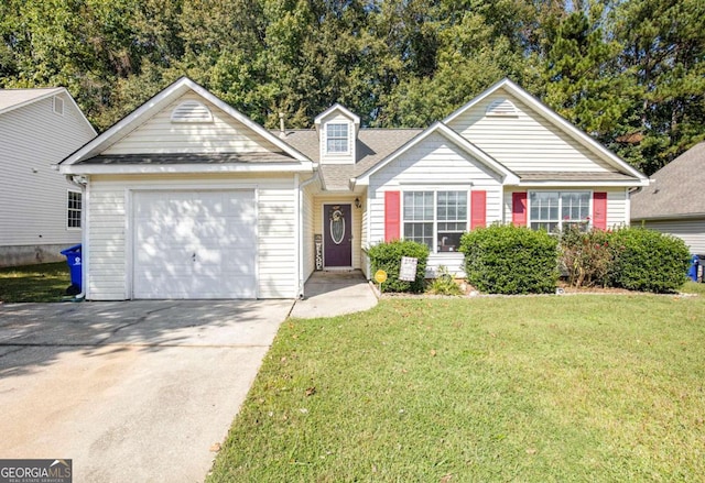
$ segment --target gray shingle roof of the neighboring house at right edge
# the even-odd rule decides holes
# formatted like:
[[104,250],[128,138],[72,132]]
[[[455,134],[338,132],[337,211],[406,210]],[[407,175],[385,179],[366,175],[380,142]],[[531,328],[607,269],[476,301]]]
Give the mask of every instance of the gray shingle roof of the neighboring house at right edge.
[[651,175],[652,183],[631,197],[631,219],[705,216],[705,142]]

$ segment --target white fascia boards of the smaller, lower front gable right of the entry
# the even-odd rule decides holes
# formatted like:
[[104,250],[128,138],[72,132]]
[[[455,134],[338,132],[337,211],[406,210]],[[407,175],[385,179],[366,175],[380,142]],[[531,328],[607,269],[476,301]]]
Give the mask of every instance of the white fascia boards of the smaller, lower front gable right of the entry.
[[384,160],[382,160],[382,162],[378,163],[376,166],[370,168],[368,172],[366,172],[361,176],[359,176],[356,179],[356,184],[360,185],[360,186],[368,186],[370,176],[372,176],[375,173],[377,173],[380,169],[382,169],[384,166],[387,166],[393,160],[395,160],[397,157],[401,156],[402,154],[404,154],[405,152],[408,152],[409,150],[411,150],[416,144],[419,144],[420,142],[422,142],[423,140],[425,140],[426,138],[429,138],[431,134],[433,134],[435,132],[438,132],[441,135],[445,136],[448,141],[451,141],[454,144],[456,144],[458,147],[460,147],[467,154],[473,156],[475,160],[478,160],[480,163],[485,164],[492,172],[501,175],[503,177],[503,184],[517,184],[517,183],[519,183],[519,176],[517,176],[510,169],[505,167],[502,164],[500,164],[498,161],[496,161],[489,154],[485,153],[482,150],[477,147],[475,144],[470,143],[468,140],[463,138],[460,134],[458,134],[457,132],[453,131],[451,128],[445,125],[443,122],[434,122],[425,131],[423,131],[422,133],[420,133],[419,135],[413,138],[411,141],[406,142],[406,144],[404,144],[403,146],[401,146],[400,149],[394,151],[392,154],[387,156]]

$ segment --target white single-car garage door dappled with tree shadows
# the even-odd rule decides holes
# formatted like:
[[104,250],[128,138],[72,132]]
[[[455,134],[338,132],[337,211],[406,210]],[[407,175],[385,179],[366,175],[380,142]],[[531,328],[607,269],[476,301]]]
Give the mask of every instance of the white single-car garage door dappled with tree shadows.
[[137,191],[134,298],[256,298],[254,194]]

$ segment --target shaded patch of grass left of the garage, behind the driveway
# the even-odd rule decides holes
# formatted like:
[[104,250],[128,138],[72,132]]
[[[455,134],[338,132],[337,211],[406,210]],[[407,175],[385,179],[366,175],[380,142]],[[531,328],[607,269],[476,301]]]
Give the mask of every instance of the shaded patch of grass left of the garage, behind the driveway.
[[70,285],[66,262],[0,268],[0,300],[61,301]]

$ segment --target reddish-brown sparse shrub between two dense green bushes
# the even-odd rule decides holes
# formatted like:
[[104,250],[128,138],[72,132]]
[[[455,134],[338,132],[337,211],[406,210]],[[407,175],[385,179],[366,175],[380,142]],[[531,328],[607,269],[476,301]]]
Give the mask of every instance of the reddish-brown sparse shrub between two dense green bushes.
[[607,286],[612,266],[610,233],[582,231],[575,224],[563,229],[558,242],[558,263],[574,287]]

